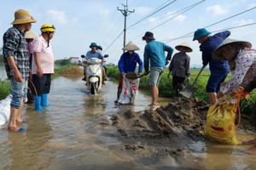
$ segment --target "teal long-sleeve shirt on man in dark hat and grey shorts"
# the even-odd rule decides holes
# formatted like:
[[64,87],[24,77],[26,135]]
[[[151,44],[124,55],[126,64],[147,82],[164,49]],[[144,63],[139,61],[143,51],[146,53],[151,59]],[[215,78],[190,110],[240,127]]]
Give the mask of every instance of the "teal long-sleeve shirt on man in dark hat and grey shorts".
[[[165,52],[167,52],[167,57]],[[144,48],[144,69],[147,72],[150,67],[164,67],[166,59],[170,60],[172,57],[173,48],[167,46],[163,42],[151,40]]]

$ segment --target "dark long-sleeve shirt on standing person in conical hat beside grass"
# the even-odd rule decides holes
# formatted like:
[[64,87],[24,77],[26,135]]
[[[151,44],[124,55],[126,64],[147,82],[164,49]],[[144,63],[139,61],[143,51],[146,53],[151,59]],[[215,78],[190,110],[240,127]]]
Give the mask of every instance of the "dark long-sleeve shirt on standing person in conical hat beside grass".
[[189,77],[189,65],[189,55],[179,52],[173,55],[171,64],[169,65],[169,71],[172,71],[173,76]]

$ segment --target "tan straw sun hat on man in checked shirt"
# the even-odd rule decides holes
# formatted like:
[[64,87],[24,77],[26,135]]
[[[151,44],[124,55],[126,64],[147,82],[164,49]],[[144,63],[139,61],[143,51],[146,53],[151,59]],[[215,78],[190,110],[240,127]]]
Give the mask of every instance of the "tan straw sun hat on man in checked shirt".
[[29,12],[27,12],[24,9],[19,9],[15,11],[15,20],[11,23],[13,25],[18,24],[26,24],[26,23],[35,23],[37,20],[35,20]]

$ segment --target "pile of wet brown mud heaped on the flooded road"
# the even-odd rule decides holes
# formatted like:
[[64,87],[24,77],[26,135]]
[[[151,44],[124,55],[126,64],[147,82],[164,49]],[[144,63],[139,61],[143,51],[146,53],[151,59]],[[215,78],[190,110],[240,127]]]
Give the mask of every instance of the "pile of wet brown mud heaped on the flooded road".
[[156,111],[125,111],[112,117],[122,136],[145,139],[185,135],[202,138],[208,105],[197,99],[173,98]]

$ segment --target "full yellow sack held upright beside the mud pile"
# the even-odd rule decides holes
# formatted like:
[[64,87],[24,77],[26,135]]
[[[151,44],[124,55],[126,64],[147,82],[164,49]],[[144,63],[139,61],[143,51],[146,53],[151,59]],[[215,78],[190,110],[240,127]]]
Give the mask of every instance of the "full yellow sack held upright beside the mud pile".
[[205,134],[208,139],[222,144],[240,144],[236,139],[236,99],[224,95],[207,112]]

